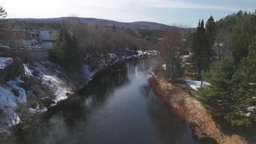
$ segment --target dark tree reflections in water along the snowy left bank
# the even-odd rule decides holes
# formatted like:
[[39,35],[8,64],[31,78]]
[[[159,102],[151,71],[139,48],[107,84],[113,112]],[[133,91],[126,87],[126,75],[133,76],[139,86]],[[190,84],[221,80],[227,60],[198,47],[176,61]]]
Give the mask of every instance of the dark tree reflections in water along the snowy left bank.
[[[106,99],[111,97],[117,88],[128,85],[134,75],[143,71],[147,63],[147,59],[130,61],[125,64],[124,70],[100,77],[90,87],[92,93],[84,93],[84,96],[88,96],[85,101],[57,113],[49,120],[48,126],[31,131],[26,135],[25,143],[75,143],[70,140],[75,140],[74,137],[80,139],[80,136],[84,135],[82,133],[89,113],[104,105]],[[144,87],[143,91],[150,95],[148,87]],[[152,105],[155,105],[154,102]]]

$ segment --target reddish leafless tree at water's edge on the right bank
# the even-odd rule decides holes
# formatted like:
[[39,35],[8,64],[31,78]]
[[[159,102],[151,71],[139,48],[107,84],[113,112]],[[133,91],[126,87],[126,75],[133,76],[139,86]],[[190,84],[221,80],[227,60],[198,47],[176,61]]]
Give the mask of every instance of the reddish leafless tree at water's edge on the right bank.
[[172,84],[174,77],[181,70],[181,52],[184,49],[184,27],[172,25],[164,30],[164,35],[158,44],[160,61],[166,64],[167,73],[170,73]]

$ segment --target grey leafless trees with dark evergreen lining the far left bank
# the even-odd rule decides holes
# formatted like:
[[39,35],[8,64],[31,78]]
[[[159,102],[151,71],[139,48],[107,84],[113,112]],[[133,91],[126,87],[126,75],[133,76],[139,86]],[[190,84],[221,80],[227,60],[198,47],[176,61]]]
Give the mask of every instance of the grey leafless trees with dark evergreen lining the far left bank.
[[138,29],[101,26],[94,23],[85,26],[78,17],[68,17],[61,24],[60,35],[51,52],[54,62],[67,69],[80,69],[84,62],[114,54],[121,57],[127,51],[153,49],[153,35],[143,37]]

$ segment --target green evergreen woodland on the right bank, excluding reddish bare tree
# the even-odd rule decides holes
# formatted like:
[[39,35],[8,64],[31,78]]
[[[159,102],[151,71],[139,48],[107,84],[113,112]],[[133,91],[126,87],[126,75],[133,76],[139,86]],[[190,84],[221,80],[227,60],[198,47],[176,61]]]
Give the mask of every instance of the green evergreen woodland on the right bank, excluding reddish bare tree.
[[217,22],[211,16],[192,37],[190,60],[198,75],[206,71],[203,79],[211,83],[199,89],[201,103],[232,126],[255,128],[255,13],[238,11]]

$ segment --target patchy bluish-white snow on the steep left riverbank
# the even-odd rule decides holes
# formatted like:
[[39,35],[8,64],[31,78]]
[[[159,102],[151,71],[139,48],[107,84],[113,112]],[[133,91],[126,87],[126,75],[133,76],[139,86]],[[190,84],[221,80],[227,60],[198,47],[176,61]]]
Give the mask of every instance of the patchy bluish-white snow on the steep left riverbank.
[[[54,63],[49,61],[24,64],[24,75],[42,80],[43,84],[46,84],[50,89],[53,89],[56,99],[54,99],[55,104],[51,104],[50,106],[54,106],[56,105],[57,101],[67,99],[66,93],[72,94],[72,92],[67,83],[54,75],[52,69],[50,70],[46,68],[45,64],[54,65]],[[55,64],[55,66],[58,67],[57,64]],[[34,70],[38,71],[38,76],[33,75]],[[19,115],[18,113],[15,113],[15,109],[19,104],[26,103],[27,96],[32,93],[30,91],[26,92],[25,89],[19,87],[18,83],[20,82],[24,81],[20,80],[20,77],[16,77],[15,80],[10,80],[0,85],[0,109],[3,110],[2,116],[4,117],[0,118],[0,133],[9,133],[8,128],[20,122]],[[12,89],[19,91],[18,97],[11,92]],[[39,105],[37,105],[36,109],[30,108],[28,111],[44,112],[47,111],[47,107],[39,108]]]

